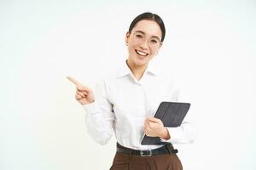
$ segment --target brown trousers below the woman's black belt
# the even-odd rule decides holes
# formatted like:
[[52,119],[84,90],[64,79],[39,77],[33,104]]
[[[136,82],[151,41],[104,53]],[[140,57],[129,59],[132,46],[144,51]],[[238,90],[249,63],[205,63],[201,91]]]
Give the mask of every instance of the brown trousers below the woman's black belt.
[[110,170],[182,170],[183,166],[176,154],[157,156],[135,156],[116,153]]

